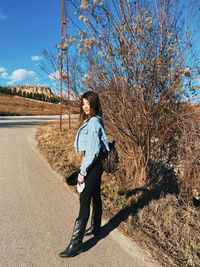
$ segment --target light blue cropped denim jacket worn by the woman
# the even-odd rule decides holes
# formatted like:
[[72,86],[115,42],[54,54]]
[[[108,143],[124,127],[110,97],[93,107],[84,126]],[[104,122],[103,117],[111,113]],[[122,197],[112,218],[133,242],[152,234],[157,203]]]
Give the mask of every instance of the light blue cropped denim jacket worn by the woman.
[[76,152],[85,151],[80,173],[87,175],[88,168],[97,159],[101,148],[109,151],[109,145],[101,116],[92,117],[78,130],[75,138]]

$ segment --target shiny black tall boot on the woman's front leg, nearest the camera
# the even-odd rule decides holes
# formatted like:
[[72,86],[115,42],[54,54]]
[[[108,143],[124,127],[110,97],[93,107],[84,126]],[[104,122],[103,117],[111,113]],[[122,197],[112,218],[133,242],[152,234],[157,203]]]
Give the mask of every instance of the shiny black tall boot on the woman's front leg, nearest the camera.
[[83,252],[82,240],[84,236],[86,223],[87,223],[86,220],[79,218],[76,219],[71,241],[68,247],[59,254],[61,258],[74,257]]

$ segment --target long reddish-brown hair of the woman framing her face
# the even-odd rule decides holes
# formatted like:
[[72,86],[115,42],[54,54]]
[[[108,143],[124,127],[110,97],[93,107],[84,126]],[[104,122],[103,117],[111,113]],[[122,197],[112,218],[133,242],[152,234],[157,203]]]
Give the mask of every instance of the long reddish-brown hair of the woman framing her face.
[[[90,105],[90,114],[89,116],[85,114],[83,111],[83,99],[87,99]],[[90,118],[100,115],[102,116],[102,108],[101,108],[101,103],[99,100],[99,96],[97,93],[93,91],[88,91],[84,93],[81,97],[81,104],[80,104],[80,120],[83,122],[84,120],[90,120]]]

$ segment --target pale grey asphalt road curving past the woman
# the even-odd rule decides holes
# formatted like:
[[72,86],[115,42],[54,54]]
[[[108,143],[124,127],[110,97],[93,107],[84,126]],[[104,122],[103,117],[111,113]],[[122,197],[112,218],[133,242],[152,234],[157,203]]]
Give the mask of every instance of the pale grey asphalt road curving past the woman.
[[158,266],[106,222],[100,238],[84,238],[84,253],[59,258],[70,241],[79,201],[34,139],[36,126],[55,119],[0,117],[0,266]]

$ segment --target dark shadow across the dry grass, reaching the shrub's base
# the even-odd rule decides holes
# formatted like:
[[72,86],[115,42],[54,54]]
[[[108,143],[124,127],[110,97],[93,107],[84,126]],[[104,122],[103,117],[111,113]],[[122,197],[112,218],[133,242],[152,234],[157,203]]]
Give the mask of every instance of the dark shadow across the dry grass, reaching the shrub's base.
[[141,193],[140,196],[131,200],[130,204],[123,207],[108,223],[111,223],[114,228],[116,228],[121,222],[126,221],[130,215],[134,216],[137,214],[139,209],[148,205],[152,200],[157,200],[167,194],[178,194],[178,192],[177,176],[173,169],[150,161],[148,164],[148,176],[145,187],[118,191],[118,194],[120,196],[125,196],[126,199],[138,193]]

